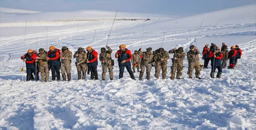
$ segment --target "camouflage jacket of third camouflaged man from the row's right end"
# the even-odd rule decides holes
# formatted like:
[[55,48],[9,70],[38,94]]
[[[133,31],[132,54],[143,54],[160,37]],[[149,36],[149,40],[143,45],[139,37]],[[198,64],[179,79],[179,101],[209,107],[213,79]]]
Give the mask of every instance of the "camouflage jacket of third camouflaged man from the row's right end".
[[[164,58],[164,61],[161,61],[160,59]],[[156,50],[153,56],[153,59],[156,64],[162,64],[162,65],[167,65],[167,60],[170,58],[169,53],[167,51],[164,51],[160,53],[159,50]]]

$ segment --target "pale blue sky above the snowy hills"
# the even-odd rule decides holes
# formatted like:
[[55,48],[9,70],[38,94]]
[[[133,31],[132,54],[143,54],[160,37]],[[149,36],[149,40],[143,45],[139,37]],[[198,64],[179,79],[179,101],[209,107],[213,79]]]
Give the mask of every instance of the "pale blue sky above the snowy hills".
[[0,0],[0,7],[40,12],[107,10],[190,16],[256,3],[256,0]]

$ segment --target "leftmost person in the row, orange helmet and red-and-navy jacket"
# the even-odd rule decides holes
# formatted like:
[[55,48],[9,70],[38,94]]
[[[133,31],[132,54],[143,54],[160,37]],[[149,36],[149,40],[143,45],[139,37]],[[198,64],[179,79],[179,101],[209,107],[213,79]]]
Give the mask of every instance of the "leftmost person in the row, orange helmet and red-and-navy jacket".
[[26,70],[27,70],[27,78],[26,81],[31,80],[31,75],[34,74],[36,76],[36,53],[33,50],[29,49],[28,52],[21,56],[21,59],[26,63]]

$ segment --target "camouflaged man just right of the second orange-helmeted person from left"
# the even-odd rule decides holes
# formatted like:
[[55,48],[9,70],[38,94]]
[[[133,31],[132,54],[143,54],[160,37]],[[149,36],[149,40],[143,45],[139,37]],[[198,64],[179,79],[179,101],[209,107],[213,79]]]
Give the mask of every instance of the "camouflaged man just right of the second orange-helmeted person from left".
[[62,81],[66,80],[66,72],[68,81],[71,80],[71,59],[72,59],[72,52],[68,50],[66,46],[63,46],[61,49],[61,74],[62,74]]

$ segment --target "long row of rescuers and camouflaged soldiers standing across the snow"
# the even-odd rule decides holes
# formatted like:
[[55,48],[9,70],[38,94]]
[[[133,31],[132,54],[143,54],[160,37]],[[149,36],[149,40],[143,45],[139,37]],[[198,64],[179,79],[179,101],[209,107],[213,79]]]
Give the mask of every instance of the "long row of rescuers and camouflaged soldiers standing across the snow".
[[[211,44],[210,48],[208,48],[208,45],[205,45],[203,48],[202,59],[204,59],[204,65],[200,65],[200,51],[194,45],[189,47],[190,50],[187,53],[185,53],[182,47],[179,47],[178,49],[173,48],[169,52],[165,51],[164,48],[159,48],[151,52],[152,48],[149,47],[146,48],[145,52],[142,52],[142,49],[140,48],[133,54],[126,48],[126,45],[120,45],[119,50],[115,53],[115,58],[117,58],[119,66],[119,79],[123,78],[124,68],[126,68],[130,77],[136,80],[134,73],[137,68],[137,71],[139,72],[139,80],[143,80],[145,71],[146,79],[149,80],[152,66],[155,67],[155,77],[159,78],[160,71],[162,71],[162,78],[165,79],[167,74],[167,60],[170,58],[169,53],[173,54],[170,79],[174,79],[175,75],[177,79],[181,79],[182,70],[184,68],[183,60],[185,59],[185,56],[188,59],[187,74],[189,78],[192,78],[192,72],[195,69],[196,78],[201,79],[201,68],[202,66],[203,68],[208,68],[210,60],[212,66],[210,77],[214,78],[215,70],[218,69],[217,78],[220,78],[222,68],[226,67],[228,59],[228,68],[234,68],[237,64],[237,59],[241,58],[242,52],[238,45],[231,46],[231,50],[228,51],[228,47],[225,43],[222,43],[221,49],[215,44]],[[61,50],[54,46],[50,46],[48,52],[43,48],[40,48],[39,53],[30,49],[25,55],[21,56],[21,59],[26,63],[26,81],[33,80],[33,74],[35,75],[35,79],[38,81],[38,74],[40,71],[42,82],[47,82],[49,81],[50,70],[52,72],[52,81],[61,81],[60,70],[62,74],[62,81],[71,81],[72,57],[76,58],[75,66],[78,72],[78,80],[85,80],[86,72],[87,74],[90,73],[90,80],[97,80],[98,53],[91,46],[88,46],[86,51],[83,48],[78,48],[73,55],[66,46],[63,46]],[[110,80],[113,80],[114,60],[111,57],[112,52],[112,49],[108,45],[106,45],[106,48],[101,48],[99,61],[101,61],[102,65],[102,80],[106,80],[107,70],[110,75]],[[131,66],[131,61],[133,67]],[[140,68],[141,70],[139,70]]]

